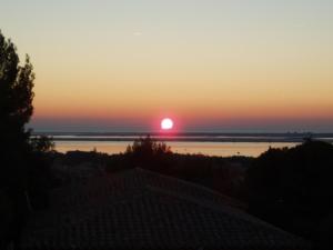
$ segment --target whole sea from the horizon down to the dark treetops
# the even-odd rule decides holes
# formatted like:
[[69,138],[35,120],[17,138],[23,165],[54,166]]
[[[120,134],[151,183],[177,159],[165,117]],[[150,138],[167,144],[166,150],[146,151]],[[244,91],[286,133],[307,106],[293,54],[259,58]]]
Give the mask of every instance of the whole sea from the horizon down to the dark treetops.
[[333,143],[333,133],[135,133],[135,132],[34,132],[33,136],[52,137],[56,150],[122,153],[138,138],[150,136],[163,141],[175,153],[216,157],[258,157],[270,148],[292,148],[304,140]]

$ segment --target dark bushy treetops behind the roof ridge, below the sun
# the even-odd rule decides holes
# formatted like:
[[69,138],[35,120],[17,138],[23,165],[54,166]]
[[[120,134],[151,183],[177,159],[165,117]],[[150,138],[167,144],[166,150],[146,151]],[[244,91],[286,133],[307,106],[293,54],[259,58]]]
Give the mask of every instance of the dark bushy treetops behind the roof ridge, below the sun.
[[244,172],[252,160],[248,157],[179,154],[172,152],[165,142],[145,137],[135,140],[125,153],[109,156],[105,170],[115,172],[139,167],[203,184],[231,197],[243,198]]

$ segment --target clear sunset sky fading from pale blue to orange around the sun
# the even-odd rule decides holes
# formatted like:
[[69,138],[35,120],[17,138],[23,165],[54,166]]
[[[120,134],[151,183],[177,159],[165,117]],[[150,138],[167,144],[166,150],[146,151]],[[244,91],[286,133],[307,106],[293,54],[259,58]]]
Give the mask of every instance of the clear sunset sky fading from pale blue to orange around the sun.
[[332,0],[0,0],[37,131],[333,132]]

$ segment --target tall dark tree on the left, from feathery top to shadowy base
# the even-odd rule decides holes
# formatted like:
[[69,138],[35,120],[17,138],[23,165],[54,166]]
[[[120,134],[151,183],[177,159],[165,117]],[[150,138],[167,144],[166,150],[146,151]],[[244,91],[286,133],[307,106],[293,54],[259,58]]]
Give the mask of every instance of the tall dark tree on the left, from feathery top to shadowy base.
[[0,223],[1,249],[16,241],[29,210],[47,201],[48,164],[26,128],[33,112],[33,80],[29,57],[20,64],[14,44],[0,31],[0,200],[8,207],[7,213],[1,210],[8,219]]

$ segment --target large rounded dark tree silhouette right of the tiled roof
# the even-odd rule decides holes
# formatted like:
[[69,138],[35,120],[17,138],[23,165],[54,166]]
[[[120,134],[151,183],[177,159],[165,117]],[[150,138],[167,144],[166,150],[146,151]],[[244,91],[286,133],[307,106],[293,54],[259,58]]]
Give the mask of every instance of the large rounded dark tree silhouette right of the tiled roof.
[[295,148],[270,149],[246,172],[249,211],[316,240],[321,224],[333,212],[332,176],[330,143],[309,139]]

